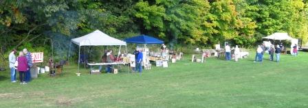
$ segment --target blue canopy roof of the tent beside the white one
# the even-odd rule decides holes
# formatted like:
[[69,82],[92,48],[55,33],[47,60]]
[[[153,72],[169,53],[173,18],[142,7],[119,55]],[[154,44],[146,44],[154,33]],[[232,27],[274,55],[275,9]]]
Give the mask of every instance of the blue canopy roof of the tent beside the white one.
[[164,41],[146,35],[126,38],[124,39],[124,41],[127,43],[136,43],[136,44],[164,44]]

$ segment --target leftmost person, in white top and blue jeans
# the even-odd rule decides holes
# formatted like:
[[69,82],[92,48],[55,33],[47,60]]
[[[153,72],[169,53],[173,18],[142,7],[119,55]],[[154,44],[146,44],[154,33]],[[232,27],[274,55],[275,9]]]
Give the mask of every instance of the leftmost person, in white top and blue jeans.
[[16,69],[15,69],[15,62],[16,62],[16,49],[13,49],[10,55],[8,55],[8,61],[10,62],[10,70],[11,70],[11,81],[12,83],[16,82]]

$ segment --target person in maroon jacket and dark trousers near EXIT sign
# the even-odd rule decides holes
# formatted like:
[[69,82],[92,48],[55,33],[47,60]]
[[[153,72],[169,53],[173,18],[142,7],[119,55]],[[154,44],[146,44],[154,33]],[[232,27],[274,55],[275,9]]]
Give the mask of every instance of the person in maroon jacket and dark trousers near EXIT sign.
[[25,81],[25,73],[29,70],[27,58],[23,55],[23,52],[19,52],[19,57],[17,57],[18,66],[17,70],[19,71],[19,79],[21,80],[20,84],[27,84]]

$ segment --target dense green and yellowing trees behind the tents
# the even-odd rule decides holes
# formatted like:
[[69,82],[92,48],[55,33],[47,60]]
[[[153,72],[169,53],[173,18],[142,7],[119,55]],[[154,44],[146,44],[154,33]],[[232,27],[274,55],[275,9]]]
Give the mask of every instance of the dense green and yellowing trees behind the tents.
[[277,31],[307,42],[307,5],[303,0],[3,0],[0,46],[49,51],[43,43],[52,39],[65,50],[69,38],[95,29],[115,38],[144,33],[169,44],[199,46],[228,41],[249,47]]

